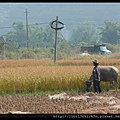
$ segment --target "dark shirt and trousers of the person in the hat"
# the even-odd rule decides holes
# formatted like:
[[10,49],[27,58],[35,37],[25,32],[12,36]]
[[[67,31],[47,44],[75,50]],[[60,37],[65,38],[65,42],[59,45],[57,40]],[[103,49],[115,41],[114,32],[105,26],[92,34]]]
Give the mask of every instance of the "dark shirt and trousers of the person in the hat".
[[94,68],[92,71],[93,74],[93,87],[95,92],[101,92],[101,87],[100,87],[100,70],[98,68],[98,64],[94,64]]

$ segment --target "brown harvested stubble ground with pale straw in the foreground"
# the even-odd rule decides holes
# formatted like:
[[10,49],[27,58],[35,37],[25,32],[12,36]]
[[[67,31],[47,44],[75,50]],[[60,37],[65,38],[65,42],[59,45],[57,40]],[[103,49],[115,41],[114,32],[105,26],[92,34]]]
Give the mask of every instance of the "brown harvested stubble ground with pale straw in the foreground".
[[0,96],[0,114],[120,114],[120,92]]

